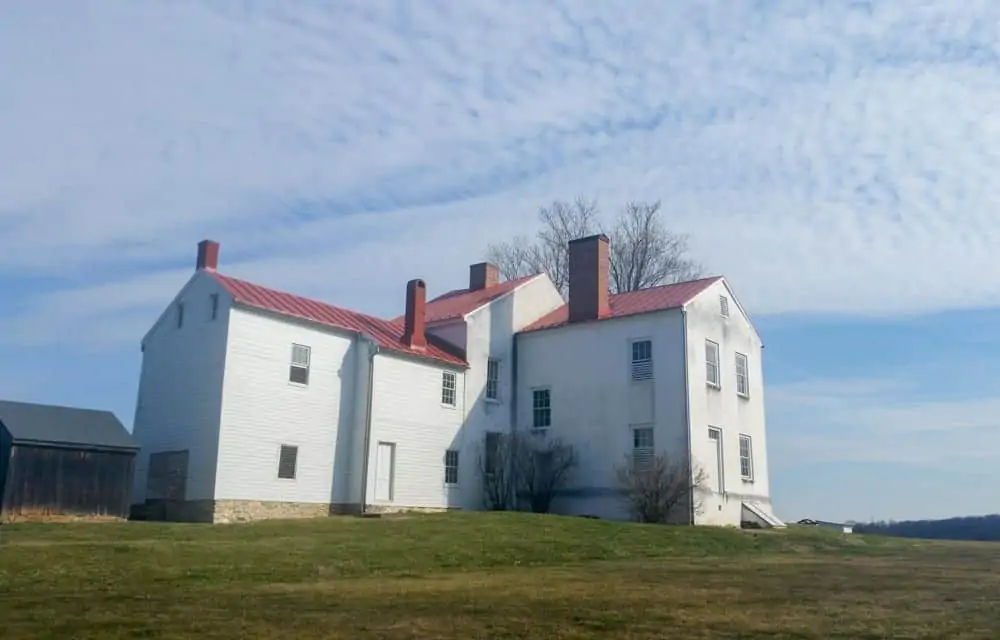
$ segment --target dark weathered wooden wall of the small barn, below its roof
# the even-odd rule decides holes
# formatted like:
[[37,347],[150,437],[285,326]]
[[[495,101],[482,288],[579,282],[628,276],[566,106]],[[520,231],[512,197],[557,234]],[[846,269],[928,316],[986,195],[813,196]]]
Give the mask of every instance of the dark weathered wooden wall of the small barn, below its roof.
[[3,516],[128,517],[135,454],[60,447],[10,448]]

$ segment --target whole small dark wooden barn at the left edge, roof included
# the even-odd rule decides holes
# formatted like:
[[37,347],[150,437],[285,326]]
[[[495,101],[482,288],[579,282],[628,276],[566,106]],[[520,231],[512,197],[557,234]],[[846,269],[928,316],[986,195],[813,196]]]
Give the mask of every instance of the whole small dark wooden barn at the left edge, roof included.
[[0,401],[0,520],[127,518],[138,449],[109,411]]

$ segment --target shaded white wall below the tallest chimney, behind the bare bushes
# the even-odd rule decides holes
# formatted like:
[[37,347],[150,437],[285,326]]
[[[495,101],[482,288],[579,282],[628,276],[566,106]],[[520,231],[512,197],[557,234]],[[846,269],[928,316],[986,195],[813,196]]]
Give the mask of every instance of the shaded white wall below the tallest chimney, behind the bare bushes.
[[[632,452],[632,426],[652,424],[658,451],[687,455],[683,316],[668,310],[517,337],[517,428],[532,426],[532,391],[551,389],[549,437],[580,459],[557,512],[627,518],[615,467]],[[650,339],[653,380],[631,379],[631,341]]]

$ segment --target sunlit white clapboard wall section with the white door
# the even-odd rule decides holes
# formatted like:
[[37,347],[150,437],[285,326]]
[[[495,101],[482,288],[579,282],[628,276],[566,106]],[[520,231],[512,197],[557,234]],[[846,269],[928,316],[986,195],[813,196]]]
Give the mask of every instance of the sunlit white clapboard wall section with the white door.
[[[445,451],[459,447],[465,410],[461,368],[382,351],[375,357],[374,401],[366,503],[387,508],[460,506],[458,487],[445,485]],[[456,401],[441,403],[442,372],[455,372]],[[375,493],[379,443],[395,445],[394,494]],[[466,461],[459,460],[459,469]]]

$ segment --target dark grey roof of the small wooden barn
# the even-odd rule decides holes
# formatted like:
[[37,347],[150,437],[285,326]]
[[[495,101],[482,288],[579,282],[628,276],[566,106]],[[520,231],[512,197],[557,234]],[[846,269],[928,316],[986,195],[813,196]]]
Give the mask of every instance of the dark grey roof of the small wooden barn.
[[110,411],[0,400],[0,424],[14,444],[137,450],[139,446]]

